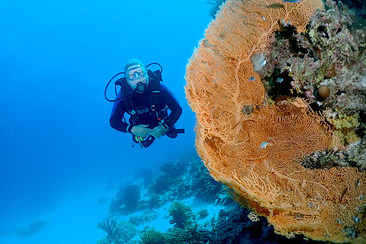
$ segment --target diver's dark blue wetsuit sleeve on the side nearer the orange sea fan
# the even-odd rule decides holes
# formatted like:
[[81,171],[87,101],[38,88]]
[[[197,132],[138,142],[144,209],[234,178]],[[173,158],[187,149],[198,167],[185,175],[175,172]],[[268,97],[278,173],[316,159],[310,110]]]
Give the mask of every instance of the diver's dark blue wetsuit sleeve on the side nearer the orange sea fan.
[[162,95],[164,97],[165,104],[171,111],[169,116],[164,119],[164,123],[168,125],[169,128],[171,128],[181,117],[182,107],[173,92],[168,87],[161,84],[161,91],[163,93]]

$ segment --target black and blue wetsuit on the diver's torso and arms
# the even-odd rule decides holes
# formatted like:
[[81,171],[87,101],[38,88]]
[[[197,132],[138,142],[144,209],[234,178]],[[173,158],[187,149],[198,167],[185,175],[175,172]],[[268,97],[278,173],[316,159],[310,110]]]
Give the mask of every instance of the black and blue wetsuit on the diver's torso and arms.
[[[138,124],[148,124],[148,128],[152,129],[159,125],[159,121],[157,120],[157,116],[154,116],[156,113],[151,113],[149,99],[152,93],[151,87],[147,86],[147,90],[143,93],[133,93],[131,95],[132,103],[134,104],[134,110],[136,114],[129,119],[131,125]],[[131,89],[132,91],[132,89]],[[177,135],[174,133],[174,124],[178,121],[179,117],[182,115],[182,107],[179,105],[176,97],[173,92],[163,84],[160,83],[160,94],[159,94],[159,103],[160,109],[162,110],[161,119],[164,119],[164,124],[169,127],[169,130],[165,133],[168,137],[175,138]],[[122,92],[120,91],[117,95],[116,99],[122,97]],[[168,115],[168,109],[170,110],[170,114]],[[127,107],[124,102],[124,98],[122,100],[116,101],[113,104],[112,114],[109,119],[110,125],[112,128],[127,132],[128,123],[122,121],[124,113],[129,113]]]

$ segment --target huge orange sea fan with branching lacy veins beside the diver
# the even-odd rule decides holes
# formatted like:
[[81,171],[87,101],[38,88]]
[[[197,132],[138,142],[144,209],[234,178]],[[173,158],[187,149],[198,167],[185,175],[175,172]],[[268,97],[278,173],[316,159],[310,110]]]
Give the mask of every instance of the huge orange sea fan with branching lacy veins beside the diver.
[[305,168],[306,155],[337,144],[325,115],[300,98],[269,105],[251,62],[271,52],[281,23],[303,32],[321,8],[321,0],[228,0],[187,65],[186,97],[196,113],[197,151],[239,203],[288,238],[361,243],[366,173]]

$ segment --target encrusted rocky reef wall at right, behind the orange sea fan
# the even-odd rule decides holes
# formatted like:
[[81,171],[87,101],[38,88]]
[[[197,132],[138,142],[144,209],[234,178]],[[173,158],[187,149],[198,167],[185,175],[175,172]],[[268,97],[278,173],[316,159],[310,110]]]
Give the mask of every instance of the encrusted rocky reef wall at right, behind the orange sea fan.
[[[348,155],[352,147],[347,146],[365,136],[366,28],[355,23],[355,14],[342,2],[327,0],[326,7],[310,18],[305,33],[284,23],[271,44],[268,64],[259,74],[269,100],[302,97],[314,110],[323,112],[337,148]],[[316,155],[322,158],[317,160]],[[305,167],[365,168],[364,161],[348,162],[348,157],[336,161],[318,152],[309,157],[314,162],[305,159]]]

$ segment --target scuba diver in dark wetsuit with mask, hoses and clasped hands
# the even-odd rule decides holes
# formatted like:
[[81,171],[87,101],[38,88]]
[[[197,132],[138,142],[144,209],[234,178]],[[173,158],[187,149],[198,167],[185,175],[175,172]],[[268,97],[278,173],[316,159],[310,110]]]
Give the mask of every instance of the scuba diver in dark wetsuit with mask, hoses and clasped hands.
[[[147,69],[151,64],[158,64],[161,70]],[[104,91],[105,98],[114,102],[109,119],[111,127],[132,134],[133,142],[139,143],[141,148],[148,147],[163,135],[176,138],[178,133],[184,133],[184,129],[176,129],[174,125],[182,115],[182,107],[172,91],[161,82],[162,66],[159,63],[151,64],[145,66],[138,59],[128,60],[124,72],[119,73],[124,73],[124,77],[115,82],[116,94],[116,85],[121,86],[116,99],[108,100],[106,90],[119,74],[108,82]],[[129,123],[124,119],[125,113],[130,115]]]

